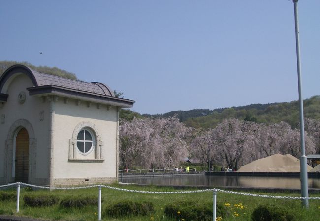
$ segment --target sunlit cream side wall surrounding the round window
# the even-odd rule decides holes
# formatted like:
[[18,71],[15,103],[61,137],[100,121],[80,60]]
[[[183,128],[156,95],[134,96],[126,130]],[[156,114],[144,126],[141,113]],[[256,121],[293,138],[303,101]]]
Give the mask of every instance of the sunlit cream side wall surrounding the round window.
[[[95,103],[88,107],[86,102],[77,105],[75,100],[64,102],[59,98],[54,103],[54,149],[53,149],[53,178],[93,178],[114,177],[117,175],[117,108]],[[90,122],[95,125],[100,135],[102,145],[101,162],[70,162],[69,140],[75,127],[81,122]],[[76,148],[76,147],[75,147]],[[78,150],[77,150],[78,151]],[[78,159],[93,159],[94,152],[88,156],[76,153]]]

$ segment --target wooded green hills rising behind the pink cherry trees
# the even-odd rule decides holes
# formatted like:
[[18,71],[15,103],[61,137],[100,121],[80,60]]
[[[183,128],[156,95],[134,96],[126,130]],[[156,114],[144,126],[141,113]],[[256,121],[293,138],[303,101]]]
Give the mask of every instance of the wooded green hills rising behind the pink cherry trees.
[[[320,96],[313,96],[304,101],[304,117],[320,119]],[[251,104],[231,108],[193,109],[190,111],[171,111],[164,114],[143,114],[144,117],[171,117],[176,115],[181,122],[189,127],[213,128],[223,119],[237,118],[257,123],[278,123],[288,122],[293,128],[299,122],[298,101]]]

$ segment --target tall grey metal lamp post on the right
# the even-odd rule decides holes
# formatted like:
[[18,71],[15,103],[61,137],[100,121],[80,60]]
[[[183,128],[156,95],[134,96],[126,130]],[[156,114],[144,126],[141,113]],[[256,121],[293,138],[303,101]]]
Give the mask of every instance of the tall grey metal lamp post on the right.
[[308,171],[307,171],[307,156],[304,147],[304,120],[303,120],[303,100],[301,93],[301,66],[300,66],[300,43],[299,43],[299,21],[298,21],[298,0],[293,0],[294,4],[294,23],[295,23],[295,43],[297,51],[297,69],[298,69],[298,90],[299,90],[299,108],[300,108],[300,181],[301,181],[301,197],[303,206],[309,207],[308,202]]

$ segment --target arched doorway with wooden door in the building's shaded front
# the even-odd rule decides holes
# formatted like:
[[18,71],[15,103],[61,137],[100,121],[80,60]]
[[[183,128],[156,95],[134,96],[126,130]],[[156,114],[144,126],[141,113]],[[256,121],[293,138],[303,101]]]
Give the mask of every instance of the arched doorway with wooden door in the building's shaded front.
[[28,183],[29,134],[26,128],[21,128],[16,135],[14,156],[14,181]]

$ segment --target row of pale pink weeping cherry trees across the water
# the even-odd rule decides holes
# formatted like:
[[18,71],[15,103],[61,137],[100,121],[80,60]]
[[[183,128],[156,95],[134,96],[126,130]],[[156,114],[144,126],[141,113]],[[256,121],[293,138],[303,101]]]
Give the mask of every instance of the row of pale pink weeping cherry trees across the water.
[[[305,119],[307,154],[320,152],[320,121]],[[120,167],[173,168],[184,157],[232,169],[276,153],[300,157],[300,131],[286,122],[224,119],[212,129],[187,127],[177,117],[120,123]]]

